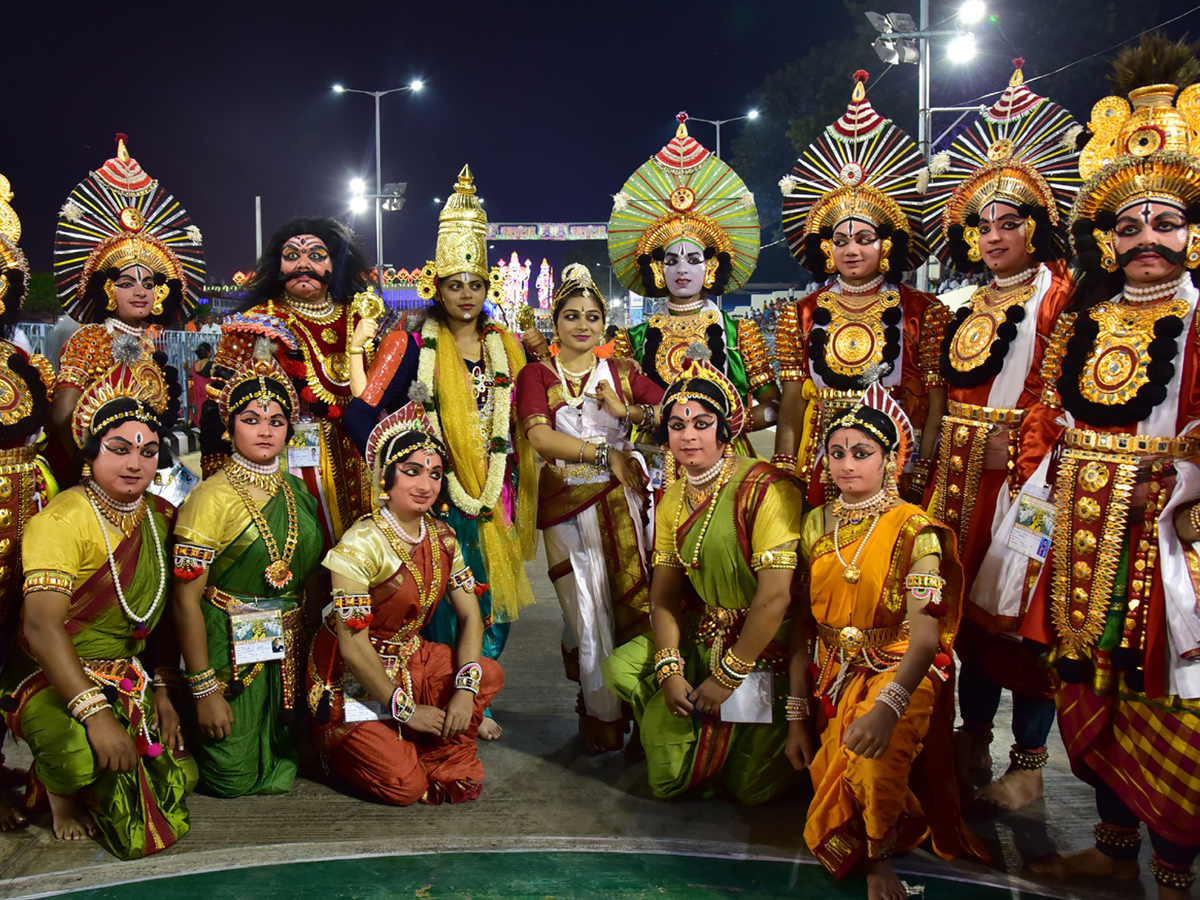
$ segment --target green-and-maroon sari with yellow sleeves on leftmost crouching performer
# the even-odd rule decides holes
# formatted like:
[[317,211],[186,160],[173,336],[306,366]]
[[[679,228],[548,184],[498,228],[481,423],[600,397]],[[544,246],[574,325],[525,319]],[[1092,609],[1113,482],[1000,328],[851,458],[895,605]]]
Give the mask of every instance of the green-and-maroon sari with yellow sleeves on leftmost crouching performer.
[[[174,508],[150,494],[146,500],[152,511],[143,520],[140,529],[113,550],[126,604],[136,616],[150,611],[160,577],[169,578],[169,568],[162,572],[160,559],[168,559],[168,516],[174,518]],[[89,528],[96,527],[86,518],[92,515],[86,499],[78,492],[55,497],[30,520],[25,532],[26,572],[50,570],[44,560],[53,559],[55,548],[85,540]],[[158,550],[155,550],[156,542]],[[169,566],[169,563],[163,562],[163,565]],[[167,590],[169,582],[163,586],[163,592]],[[145,619],[149,629],[154,629],[169,602],[164,593]],[[0,678],[0,706],[8,726],[29,744],[34,755],[34,792],[26,804],[36,804],[43,787],[62,796],[82,792],[101,838],[121,859],[164,850],[187,834],[185,797],[196,786],[196,762],[191,757],[176,758],[164,746],[157,756],[146,752],[154,752],[157,748],[150,745],[161,738],[155,721],[154,690],[136,659],[145,649],[146,641],[134,636],[134,625],[118,602],[107,563],[76,587],[66,630],[80,661],[100,684],[120,688],[113,714],[139,750],[138,763],[131,772],[114,773],[97,767],[83,724],[67,712],[66,700],[32,659],[23,634],[18,636],[20,648],[10,658]],[[126,684],[132,688],[121,686],[122,679],[128,679]]]

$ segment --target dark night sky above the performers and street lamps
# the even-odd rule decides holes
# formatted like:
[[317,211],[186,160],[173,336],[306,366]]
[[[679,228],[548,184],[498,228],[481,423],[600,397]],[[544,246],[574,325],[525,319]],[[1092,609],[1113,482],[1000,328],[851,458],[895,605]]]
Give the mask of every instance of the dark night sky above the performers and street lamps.
[[[0,173],[35,271],[50,269],[56,212],[116,132],[202,229],[210,281],[253,265],[256,194],[264,239],[292,215],[336,215],[373,258],[373,209],[348,214],[349,179],[373,184],[373,100],[331,85],[421,78],[421,94],[382,108],[384,181],[408,181],[404,209],[384,214],[384,256],[409,268],[432,257],[433,198],[464,162],[492,221],[607,221],[678,110],[743,115],[767,74],[853,24],[838,0],[10,2]],[[725,156],[745,127],[722,128]],[[692,134],[713,149],[712,126]],[[569,246],[516,248],[536,269]]]

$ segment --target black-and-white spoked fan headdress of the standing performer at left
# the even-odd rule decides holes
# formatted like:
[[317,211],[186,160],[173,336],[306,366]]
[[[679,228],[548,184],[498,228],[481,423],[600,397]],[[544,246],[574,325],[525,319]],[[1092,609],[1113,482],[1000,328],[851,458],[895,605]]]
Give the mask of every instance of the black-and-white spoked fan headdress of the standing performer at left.
[[116,136],[116,156],[71,192],[59,211],[54,274],[62,308],[91,322],[110,270],[144,265],[155,274],[155,317],[187,317],[204,284],[200,229],[151,179]]

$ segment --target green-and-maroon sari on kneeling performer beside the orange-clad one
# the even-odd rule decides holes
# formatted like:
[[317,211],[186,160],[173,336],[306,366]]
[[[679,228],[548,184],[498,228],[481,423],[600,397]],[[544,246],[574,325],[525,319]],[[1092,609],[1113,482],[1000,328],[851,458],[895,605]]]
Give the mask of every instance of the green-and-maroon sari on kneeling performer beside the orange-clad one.
[[[690,562],[696,554],[708,503],[716,508],[700,546],[698,569],[686,569],[688,581],[701,600],[682,617],[679,652],[684,678],[692,688],[710,674],[714,637],[722,646],[737,641],[745,613],[758,588],[751,568],[754,554],[793,544],[799,538],[800,493],[774,467],[737,460],[730,482],[703,506],[685,516],[672,541],[676,511],[683,503],[684,481],[676,481],[655,515],[655,545],[660,552],[678,548]],[[689,791],[712,797],[726,793],[745,804],[757,804],[798,784],[798,774],[784,756],[787,722],[787,620],[760,656],[774,673],[770,724],[724,722],[714,716],[677,718],[654,677],[656,647],[653,635],[618,647],[604,665],[605,682],[634,709],[646,750],[647,776],[659,798]]]

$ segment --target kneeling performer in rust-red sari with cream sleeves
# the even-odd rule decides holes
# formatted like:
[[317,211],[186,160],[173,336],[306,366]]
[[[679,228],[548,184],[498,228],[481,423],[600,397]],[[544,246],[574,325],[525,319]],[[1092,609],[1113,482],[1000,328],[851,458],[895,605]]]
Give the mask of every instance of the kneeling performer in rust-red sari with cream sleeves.
[[[480,659],[484,586],[454,529],[430,515],[445,499],[445,458],[420,402],[371,433],[380,506],[325,556],[334,608],[308,660],[318,746],[356,788],[397,805],[479,797],[475,736],[504,683],[499,665]],[[454,647],[420,635],[443,595],[458,624]],[[383,707],[382,720],[352,713],[364,694]]]

